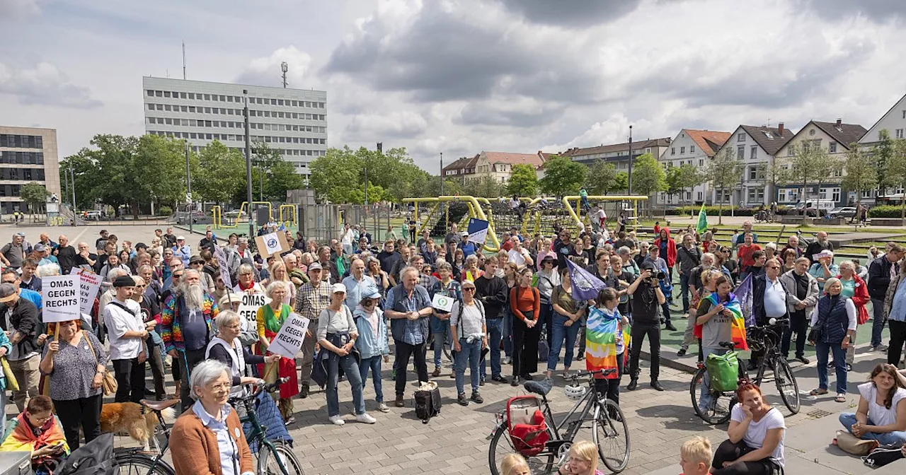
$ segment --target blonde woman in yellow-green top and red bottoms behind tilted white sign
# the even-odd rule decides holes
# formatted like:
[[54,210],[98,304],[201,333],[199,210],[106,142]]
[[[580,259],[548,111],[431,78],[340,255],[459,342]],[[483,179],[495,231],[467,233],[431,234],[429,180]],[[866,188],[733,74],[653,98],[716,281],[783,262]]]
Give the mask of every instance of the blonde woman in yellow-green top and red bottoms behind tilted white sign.
[[[286,318],[292,311],[289,305],[284,304],[287,284],[283,280],[276,280],[267,286],[265,294],[271,303],[258,309],[256,316],[258,322],[258,342],[261,347],[261,354],[265,354],[267,347],[270,346],[271,340],[276,337],[283,326]],[[258,366],[258,371],[264,375],[267,383],[273,383],[278,377],[288,377],[289,381],[280,385],[279,399],[277,406],[280,408],[280,414],[283,415],[284,423],[294,423],[293,417],[293,396],[299,393],[299,381],[295,372],[295,360],[293,358],[281,357],[280,361],[275,363],[265,363],[264,371]]]

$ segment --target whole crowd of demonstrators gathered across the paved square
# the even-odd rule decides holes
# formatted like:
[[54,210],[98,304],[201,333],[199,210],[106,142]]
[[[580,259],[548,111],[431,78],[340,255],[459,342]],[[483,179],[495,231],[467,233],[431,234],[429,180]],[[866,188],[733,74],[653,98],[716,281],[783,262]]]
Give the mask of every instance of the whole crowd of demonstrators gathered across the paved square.
[[[812,394],[829,393],[828,368],[834,367],[840,402],[860,325],[873,318],[871,349],[887,352],[893,374],[906,343],[906,251],[895,242],[883,252],[872,248],[868,265],[862,266],[854,259],[834,263],[827,233],[817,233],[805,246],[793,235],[778,249],[775,242],[759,242],[748,222],[726,243],[713,232],[699,234],[689,226],[671,233],[660,223],[650,242],[626,229],[624,221],[612,232],[601,226],[578,235],[558,228],[552,236],[524,236],[514,228],[503,233],[501,249],[493,254],[482,252],[456,223],[438,241],[427,231],[415,239],[414,226],[407,228],[400,239],[390,235],[383,242],[350,224],[329,242],[285,232],[289,248],[266,257],[252,252],[246,237],[222,239],[210,229],[195,250],[170,228],[156,230],[147,244],[120,241],[106,231],[93,245],[74,246],[65,235],[53,242],[41,233],[30,243],[24,233],[16,233],[0,250],[0,326],[5,330],[0,356],[18,383],[11,398],[20,413],[33,413],[43,403],[34,403],[34,410],[29,404],[43,401],[42,394],[49,397],[68,451],[100,433],[108,363],[117,386],[114,401],[178,398],[183,416],[174,435],[192,438],[200,427],[231,432],[236,421],[225,398],[242,394],[243,385],[278,378],[285,382],[274,404],[287,425],[294,423],[294,399],[309,397],[313,384],[324,389],[328,421],[346,423],[339,405],[342,381],[352,392],[355,421],[377,423],[363,395],[369,375],[375,395],[371,407],[387,413],[390,404],[405,407],[412,375],[419,383],[442,375],[455,379],[457,402],[467,406],[484,403],[480,391],[487,383],[516,386],[540,377],[569,377],[574,364],[583,362],[587,369],[617,370],[595,387],[619,404],[623,374],[629,375],[626,390],[639,387],[646,339],[651,388],[664,390],[660,336],[676,331],[679,319],[688,321],[679,356],[698,347],[699,358],[727,351],[721,342],[745,340],[734,323],[738,315],[759,326],[771,318],[788,319],[789,325],[773,334],[781,353],[789,358],[795,341],[790,359],[807,364],[805,345],[811,340],[819,379]],[[226,269],[218,263],[220,252]],[[82,318],[45,325],[42,278],[73,269],[100,276],[93,309]],[[576,269],[601,280],[602,289],[592,298],[573,284]],[[734,294],[743,282],[747,290]],[[254,319],[236,313],[244,294],[269,301]],[[437,303],[438,296],[452,305]],[[674,299],[681,302],[681,313],[670,309]],[[294,358],[268,352],[293,312],[310,321],[299,367]],[[887,322],[890,347],[881,341]],[[451,366],[444,364],[445,348],[452,351]],[[384,365],[391,365],[391,400],[384,398]],[[146,381],[148,366],[151,381]],[[164,384],[168,370],[175,382],[172,393]],[[906,441],[902,397],[878,395],[878,388],[900,387],[899,380],[886,379],[889,368],[875,373],[866,384],[871,387],[860,386],[859,412],[841,421],[857,436]],[[8,386],[0,375],[0,387]],[[0,393],[5,408],[5,391]],[[748,473],[782,467],[783,416],[764,403],[756,386],[740,389],[738,400],[728,442],[713,459],[715,468],[745,472],[729,470],[732,461],[762,467],[750,467]],[[707,394],[699,404],[709,404]],[[893,414],[892,407],[897,408]],[[247,447],[217,434],[211,443],[229,446],[240,470]],[[174,461],[178,453],[185,452],[175,451]],[[210,454],[208,459],[211,467],[220,460]]]

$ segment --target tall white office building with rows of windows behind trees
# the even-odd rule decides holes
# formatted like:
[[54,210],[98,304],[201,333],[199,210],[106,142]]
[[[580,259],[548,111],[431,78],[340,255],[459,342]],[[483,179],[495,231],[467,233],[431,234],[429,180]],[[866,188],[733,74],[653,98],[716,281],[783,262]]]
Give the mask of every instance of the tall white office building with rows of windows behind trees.
[[249,134],[265,142],[308,175],[308,163],[327,151],[327,92],[142,78],[145,130],[185,138],[198,150],[213,140],[245,150],[244,97],[248,96]]

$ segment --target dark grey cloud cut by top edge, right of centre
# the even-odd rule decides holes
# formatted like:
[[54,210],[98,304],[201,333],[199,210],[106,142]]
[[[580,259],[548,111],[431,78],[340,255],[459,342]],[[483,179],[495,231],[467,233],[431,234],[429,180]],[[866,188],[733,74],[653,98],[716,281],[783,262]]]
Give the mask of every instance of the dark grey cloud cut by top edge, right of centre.
[[495,0],[534,24],[584,27],[604,24],[634,11],[641,0]]

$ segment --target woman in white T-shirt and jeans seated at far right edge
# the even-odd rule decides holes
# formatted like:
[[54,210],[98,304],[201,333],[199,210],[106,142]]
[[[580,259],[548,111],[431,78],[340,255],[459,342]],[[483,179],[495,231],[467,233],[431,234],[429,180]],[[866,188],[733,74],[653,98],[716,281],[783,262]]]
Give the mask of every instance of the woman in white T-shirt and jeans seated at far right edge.
[[840,414],[840,423],[860,439],[893,446],[906,443],[906,377],[896,366],[875,366],[870,382],[859,385],[856,413]]

